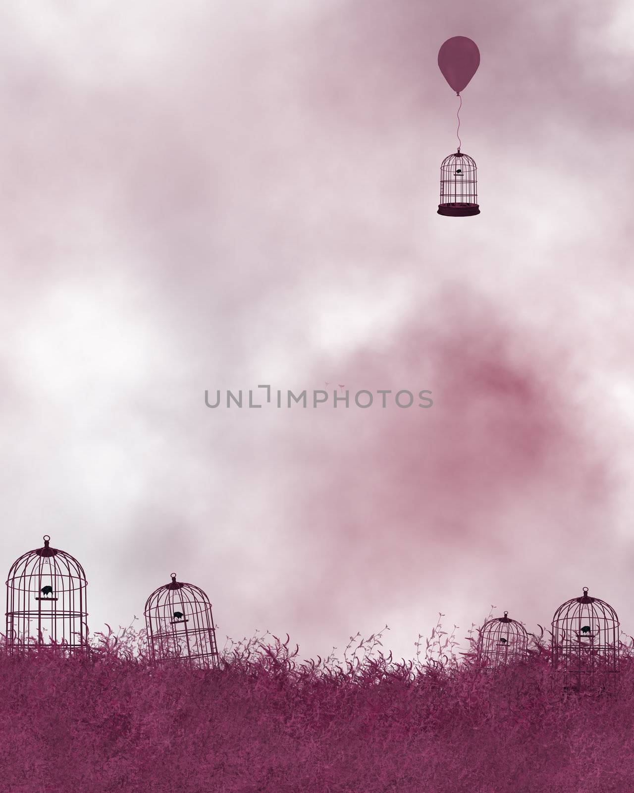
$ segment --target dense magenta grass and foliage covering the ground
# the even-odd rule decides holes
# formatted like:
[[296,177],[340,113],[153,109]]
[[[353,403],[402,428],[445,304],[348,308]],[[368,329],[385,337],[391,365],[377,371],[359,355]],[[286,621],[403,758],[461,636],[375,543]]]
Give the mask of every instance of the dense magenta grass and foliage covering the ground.
[[2,791],[634,789],[631,643],[617,695],[573,694],[553,688],[543,636],[490,674],[440,623],[412,661],[384,655],[384,630],[303,663],[288,636],[227,638],[211,671],[148,664],[132,627],[88,658],[2,652]]

